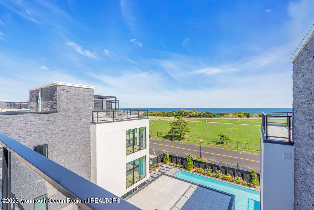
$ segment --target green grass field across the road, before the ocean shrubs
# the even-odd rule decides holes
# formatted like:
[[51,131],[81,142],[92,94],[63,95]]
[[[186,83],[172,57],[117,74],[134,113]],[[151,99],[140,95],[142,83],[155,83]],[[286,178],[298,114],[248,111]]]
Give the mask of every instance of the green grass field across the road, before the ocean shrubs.
[[[243,119],[244,120],[244,119]],[[204,120],[205,121],[205,120]],[[236,125],[231,131],[230,128],[233,126],[232,124],[223,124],[223,123],[206,123],[203,120],[200,122],[189,122],[188,127],[190,128],[190,132],[187,132],[187,136],[194,136],[194,137],[201,137],[203,142],[211,143],[211,144],[220,144],[224,146],[232,146],[232,147],[241,147],[244,148],[244,142],[248,144],[255,144],[255,145],[246,145],[246,149],[253,149],[253,150],[260,150],[260,127],[254,125]],[[226,120],[219,120],[213,119],[210,122],[226,122],[226,123],[234,123],[236,119],[226,119]],[[258,124],[260,119],[249,119],[245,121],[246,123],[243,124]],[[167,120],[150,120],[149,121],[149,131],[151,132],[164,132],[168,133],[170,129],[170,124]],[[203,122],[203,123],[202,123]],[[240,123],[240,120],[239,122]],[[219,139],[218,134],[227,134],[228,131],[230,133],[228,136],[231,138],[231,141],[227,144],[221,144],[221,140],[214,140]],[[154,134],[154,133],[152,133]],[[199,141],[198,138],[193,137],[185,137],[186,140],[190,141]],[[238,142],[238,143],[236,143]],[[225,143],[225,142],[224,142]]]

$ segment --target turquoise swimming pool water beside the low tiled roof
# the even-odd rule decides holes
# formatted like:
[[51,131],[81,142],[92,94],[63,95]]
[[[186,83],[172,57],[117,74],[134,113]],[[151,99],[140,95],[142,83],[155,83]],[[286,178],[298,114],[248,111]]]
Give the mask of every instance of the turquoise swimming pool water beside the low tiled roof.
[[258,191],[181,170],[174,176],[235,195],[236,210],[260,209],[261,194]]

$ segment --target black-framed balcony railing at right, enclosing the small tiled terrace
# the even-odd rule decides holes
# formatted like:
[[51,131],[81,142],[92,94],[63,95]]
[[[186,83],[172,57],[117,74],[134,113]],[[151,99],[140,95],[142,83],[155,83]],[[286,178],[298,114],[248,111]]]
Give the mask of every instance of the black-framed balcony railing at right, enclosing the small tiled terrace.
[[266,139],[292,141],[292,112],[262,112],[262,127]]

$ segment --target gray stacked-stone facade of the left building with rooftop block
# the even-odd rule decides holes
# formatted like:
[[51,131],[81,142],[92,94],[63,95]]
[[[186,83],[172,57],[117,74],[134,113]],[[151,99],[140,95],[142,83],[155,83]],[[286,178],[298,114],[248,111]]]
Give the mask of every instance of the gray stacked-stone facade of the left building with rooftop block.
[[[31,111],[37,93],[30,91]],[[58,113],[0,115],[0,132],[31,149],[48,144],[49,159],[90,180],[93,109],[94,89],[54,85],[42,88],[42,111]]]

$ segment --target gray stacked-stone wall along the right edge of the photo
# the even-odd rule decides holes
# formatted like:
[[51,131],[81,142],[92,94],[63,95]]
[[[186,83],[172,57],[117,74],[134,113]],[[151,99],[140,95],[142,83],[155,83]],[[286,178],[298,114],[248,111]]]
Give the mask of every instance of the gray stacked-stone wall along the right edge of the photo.
[[[314,209],[314,37],[293,62],[294,208]],[[292,193],[292,192],[291,192]]]

